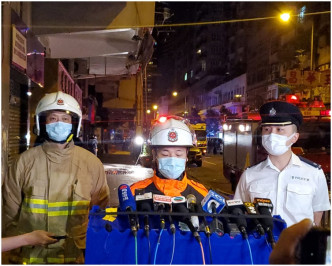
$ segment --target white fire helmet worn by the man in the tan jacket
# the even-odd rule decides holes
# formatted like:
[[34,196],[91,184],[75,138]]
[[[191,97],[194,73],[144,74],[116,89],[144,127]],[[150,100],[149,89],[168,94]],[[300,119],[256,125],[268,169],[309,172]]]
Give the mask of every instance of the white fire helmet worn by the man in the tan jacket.
[[[38,136],[40,135],[40,116],[43,112],[50,110],[61,110],[75,114],[78,118],[76,137],[79,136],[82,121],[81,107],[74,97],[62,91],[48,93],[39,101],[36,108],[36,133]],[[76,128],[76,125],[73,124],[74,126]]]

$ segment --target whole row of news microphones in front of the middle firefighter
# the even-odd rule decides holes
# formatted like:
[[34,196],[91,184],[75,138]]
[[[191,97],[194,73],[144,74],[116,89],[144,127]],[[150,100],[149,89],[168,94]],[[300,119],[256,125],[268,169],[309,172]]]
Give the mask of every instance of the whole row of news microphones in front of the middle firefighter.
[[[134,235],[142,228],[148,237],[152,229],[150,217],[157,216],[159,228],[153,229],[165,229],[169,225],[173,234],[176,228],[190,230],[198,242],[198,232],[203,231],[207,236],[213,233],[218,236],[227,233],[230,237],[241,234],[243,239],[247,239],[250,233],[255,237],[266,233],[272,247],[275,243],[271,215],[273,205],[270,199],[255,198],[253,203],[239,199],[226,200],[213,190],[208,192],[201,203],[197,203],[192,194],[187,197],[169,197],[145,192],[144,189],[136,190],[134,197],[130,187],[125,184],[119,186],[118,196],[119,211],[128,216]],[[143,226],[140,226],[140,220]]]

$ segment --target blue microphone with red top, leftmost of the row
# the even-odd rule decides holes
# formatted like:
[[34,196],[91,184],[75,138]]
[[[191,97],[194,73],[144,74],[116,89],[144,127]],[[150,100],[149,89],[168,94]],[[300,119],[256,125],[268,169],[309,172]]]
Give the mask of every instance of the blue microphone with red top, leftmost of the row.
[[134,196],[131,193],[130,187],[126,184],[122,184],[118,188],[119,197],[119,209],[120,211],[129,212],[128,219],[130,224],[130,229],[134,236],[137,235],[137,223],[135,216],[130,214],[130,212],[136,211],[136,204]]

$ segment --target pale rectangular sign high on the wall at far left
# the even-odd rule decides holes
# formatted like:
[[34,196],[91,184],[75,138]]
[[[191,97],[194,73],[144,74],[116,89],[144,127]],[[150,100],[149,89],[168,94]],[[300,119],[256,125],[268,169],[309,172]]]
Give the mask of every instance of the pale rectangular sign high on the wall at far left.
[[27,39],[14,25],[12,29],[12,63],[25,71],[27,69]]

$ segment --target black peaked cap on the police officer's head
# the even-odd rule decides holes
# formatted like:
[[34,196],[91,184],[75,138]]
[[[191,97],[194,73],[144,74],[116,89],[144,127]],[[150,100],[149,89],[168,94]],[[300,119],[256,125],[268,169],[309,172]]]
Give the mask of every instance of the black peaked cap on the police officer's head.
[[302,124],[302,113],[299,108],[283,101],[265,103],[259,109],[262,126],[287,126],[294,124],[297,128]]

